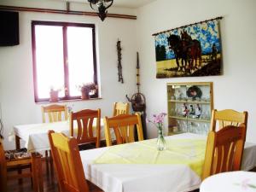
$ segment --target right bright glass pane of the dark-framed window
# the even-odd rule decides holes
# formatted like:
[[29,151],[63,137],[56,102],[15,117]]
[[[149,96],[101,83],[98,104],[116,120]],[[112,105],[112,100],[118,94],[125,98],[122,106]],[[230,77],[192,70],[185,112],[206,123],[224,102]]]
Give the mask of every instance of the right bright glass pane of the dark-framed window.
[[78,86],[94,82],[92,29],[68,26],[67,52],[70,96],[80,96]]

